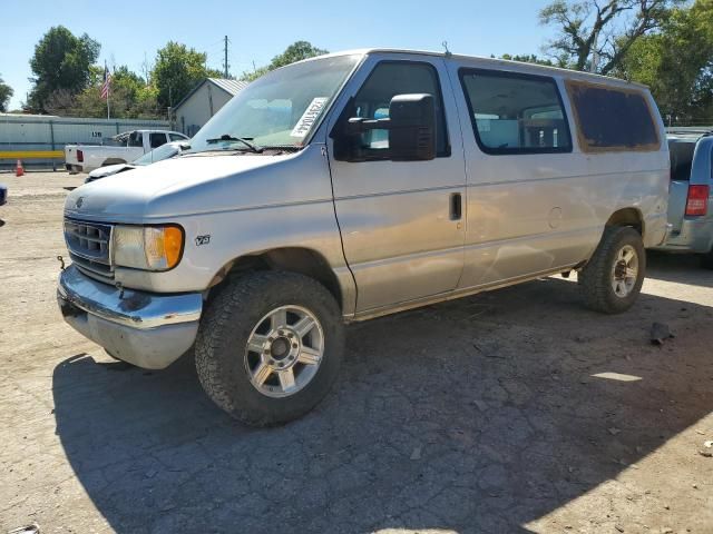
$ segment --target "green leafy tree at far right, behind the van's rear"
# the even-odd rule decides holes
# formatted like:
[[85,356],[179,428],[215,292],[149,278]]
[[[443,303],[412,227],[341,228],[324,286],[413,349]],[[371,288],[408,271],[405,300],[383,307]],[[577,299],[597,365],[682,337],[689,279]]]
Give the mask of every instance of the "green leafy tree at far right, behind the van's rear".
[[646,83],[664,117],[713,118],[713,0],[677,8],[660,32],[629,49],[618,76]]

